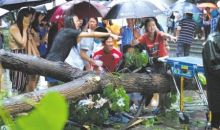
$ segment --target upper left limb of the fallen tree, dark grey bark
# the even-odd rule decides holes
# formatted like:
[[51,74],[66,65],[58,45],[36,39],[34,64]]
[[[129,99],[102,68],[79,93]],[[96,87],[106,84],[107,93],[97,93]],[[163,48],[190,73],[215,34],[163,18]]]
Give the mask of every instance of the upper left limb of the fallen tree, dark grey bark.
[[7,69],[19,70],[28,74],[50,76],[55,79],[68,82],[89,72],[80,71],[63,62],[48,61],[43,58],[25,54],[14,54],[0,50],[0,61]]

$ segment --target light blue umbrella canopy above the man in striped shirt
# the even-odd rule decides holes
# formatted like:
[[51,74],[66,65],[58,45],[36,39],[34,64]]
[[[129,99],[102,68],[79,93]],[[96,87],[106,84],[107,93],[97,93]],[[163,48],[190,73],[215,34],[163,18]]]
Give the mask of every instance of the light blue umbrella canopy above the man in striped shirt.
[[182,1],[177,1],[174,4],[170,6],[170,9],[172,11],[178,11],[180,13],[201,13],[201,10],[194,4],[189,3],[189,2],[182,2]]

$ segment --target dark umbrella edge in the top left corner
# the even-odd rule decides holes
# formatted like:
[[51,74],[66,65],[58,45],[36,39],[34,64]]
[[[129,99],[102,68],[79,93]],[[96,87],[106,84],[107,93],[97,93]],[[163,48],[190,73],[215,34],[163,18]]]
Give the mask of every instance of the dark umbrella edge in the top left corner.
[[0,0],[0,7],[7,10],[16,10],[24,6],[35,6],[52,0]]

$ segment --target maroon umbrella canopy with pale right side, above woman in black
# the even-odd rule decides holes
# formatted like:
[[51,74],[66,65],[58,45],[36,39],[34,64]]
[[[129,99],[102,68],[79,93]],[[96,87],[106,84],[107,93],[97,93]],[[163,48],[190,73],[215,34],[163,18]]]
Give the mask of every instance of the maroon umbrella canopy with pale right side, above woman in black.
[[90,0],[74,1],[72,6],[67,9],[67,15],[76,14],[79,18],[104,17],[108,8],[99,2]]

